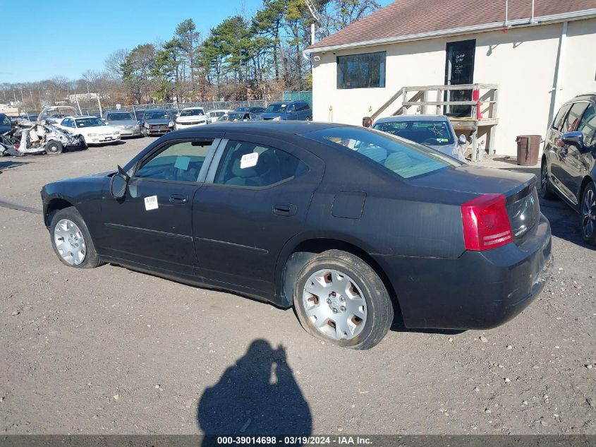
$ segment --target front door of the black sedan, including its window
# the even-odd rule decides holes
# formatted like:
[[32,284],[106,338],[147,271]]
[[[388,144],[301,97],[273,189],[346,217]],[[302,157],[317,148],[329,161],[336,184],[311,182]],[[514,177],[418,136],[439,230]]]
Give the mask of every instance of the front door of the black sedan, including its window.
[[193,198],[219,141],[164,141],[138,162],[123,198],[102,201],[104,254],[175,275],[193,275]]

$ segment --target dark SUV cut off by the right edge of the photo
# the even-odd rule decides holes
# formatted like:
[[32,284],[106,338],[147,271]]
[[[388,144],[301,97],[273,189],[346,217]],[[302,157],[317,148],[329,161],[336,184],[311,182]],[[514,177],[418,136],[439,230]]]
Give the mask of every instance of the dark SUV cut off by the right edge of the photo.
[[596,93],[566,102],[547,130],[542,198],[556,193],[580,213],[583,240],[596,244]]

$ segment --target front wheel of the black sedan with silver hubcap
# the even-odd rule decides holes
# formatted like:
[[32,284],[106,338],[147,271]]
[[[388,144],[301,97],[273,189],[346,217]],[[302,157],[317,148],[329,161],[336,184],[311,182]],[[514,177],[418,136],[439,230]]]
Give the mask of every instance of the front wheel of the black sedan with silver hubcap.
[[75,268],[100,265],[83,217],[73,208],[63,208],[51,216],[49,225],[51,246],[62,263]]

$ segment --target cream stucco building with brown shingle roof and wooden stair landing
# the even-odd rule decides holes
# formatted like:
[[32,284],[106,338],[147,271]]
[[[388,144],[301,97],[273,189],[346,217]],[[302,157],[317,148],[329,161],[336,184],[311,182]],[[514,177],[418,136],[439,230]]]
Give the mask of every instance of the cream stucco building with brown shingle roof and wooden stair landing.
[[[516,136],[545,136],[564,101],[596,91],[596,0],[398,0],[305,53],[317,121],[361,124],[410,86],[496,84],[496,125],[481,126],[478,141],[514,155]],[[413,91],[403,90],[377,117],[394,114]],[[419,99],[473,100],[471,90],[427,93]],[[458,107],[401,113],[455,117],[466,112]]]

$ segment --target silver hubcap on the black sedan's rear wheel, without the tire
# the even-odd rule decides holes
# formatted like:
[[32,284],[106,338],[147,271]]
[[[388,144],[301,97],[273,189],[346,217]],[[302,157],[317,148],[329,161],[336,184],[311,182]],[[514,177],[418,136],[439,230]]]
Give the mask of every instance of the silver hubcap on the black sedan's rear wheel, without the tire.
[[334,340],[351,340],[366,323],[366,301],[360,287],[339,270],[318,270],[310,275],[303,306],[312,326]]

